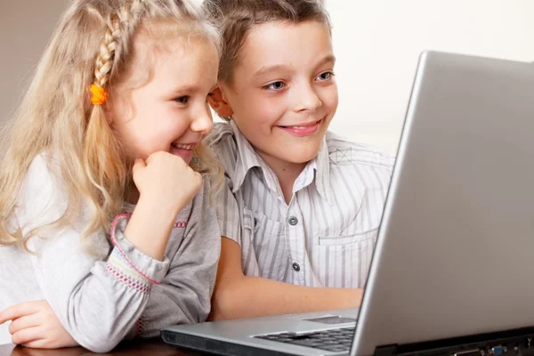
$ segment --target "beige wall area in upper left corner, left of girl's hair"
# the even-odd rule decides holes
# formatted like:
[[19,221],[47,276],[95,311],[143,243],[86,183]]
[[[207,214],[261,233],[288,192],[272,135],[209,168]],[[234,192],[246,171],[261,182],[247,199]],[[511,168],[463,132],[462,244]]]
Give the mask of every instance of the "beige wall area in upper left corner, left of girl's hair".
[[0,0],[0,125],[12,115],[67,0]]

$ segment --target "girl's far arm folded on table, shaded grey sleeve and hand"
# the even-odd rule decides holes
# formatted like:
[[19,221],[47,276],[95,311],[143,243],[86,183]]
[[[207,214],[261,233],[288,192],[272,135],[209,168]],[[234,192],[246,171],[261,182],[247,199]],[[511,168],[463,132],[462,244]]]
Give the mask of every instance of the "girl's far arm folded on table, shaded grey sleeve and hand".
[[[161,284],[152,286],[144,312],[128,336],[158,336],[161,328],[206,320],[221,245],[215,219],[207,194],[198,194],[169,271]],[[37,348],[77,345],[46,301],[13,305],[0,312],[0,324],[5,320],[14,320],[10,332],[15,344]]]

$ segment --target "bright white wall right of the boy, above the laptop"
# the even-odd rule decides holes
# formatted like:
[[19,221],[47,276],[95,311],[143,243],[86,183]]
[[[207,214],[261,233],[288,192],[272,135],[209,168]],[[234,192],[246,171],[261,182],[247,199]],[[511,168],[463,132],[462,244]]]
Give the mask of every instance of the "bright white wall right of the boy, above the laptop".
[[339,107],[330,129],[395,152],[424,50],[534,61],[532,0],[327,0]]

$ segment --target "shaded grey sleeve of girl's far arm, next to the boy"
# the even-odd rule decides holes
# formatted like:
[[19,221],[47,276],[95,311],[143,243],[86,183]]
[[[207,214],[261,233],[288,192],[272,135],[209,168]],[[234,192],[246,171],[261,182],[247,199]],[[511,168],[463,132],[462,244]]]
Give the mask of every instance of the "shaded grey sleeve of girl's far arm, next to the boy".
[[205,182],[193,200],[185,235],[166,277],[152,287],[136,330],[139,336],[159,336],[161,328],[204,321],[210,312],[221,237],[208,192]]

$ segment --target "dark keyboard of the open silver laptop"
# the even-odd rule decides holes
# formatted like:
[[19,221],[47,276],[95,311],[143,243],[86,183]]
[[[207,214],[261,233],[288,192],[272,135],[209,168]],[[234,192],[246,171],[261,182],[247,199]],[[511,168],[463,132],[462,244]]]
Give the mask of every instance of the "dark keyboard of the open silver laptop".
[[354,330],[351,328],[336,328],[332,330],[317,331],[310,334],[282,333],[255,336],[260,339],[277,341],[284,344],[297,344],[313,347],[330,352],[350,352]]

